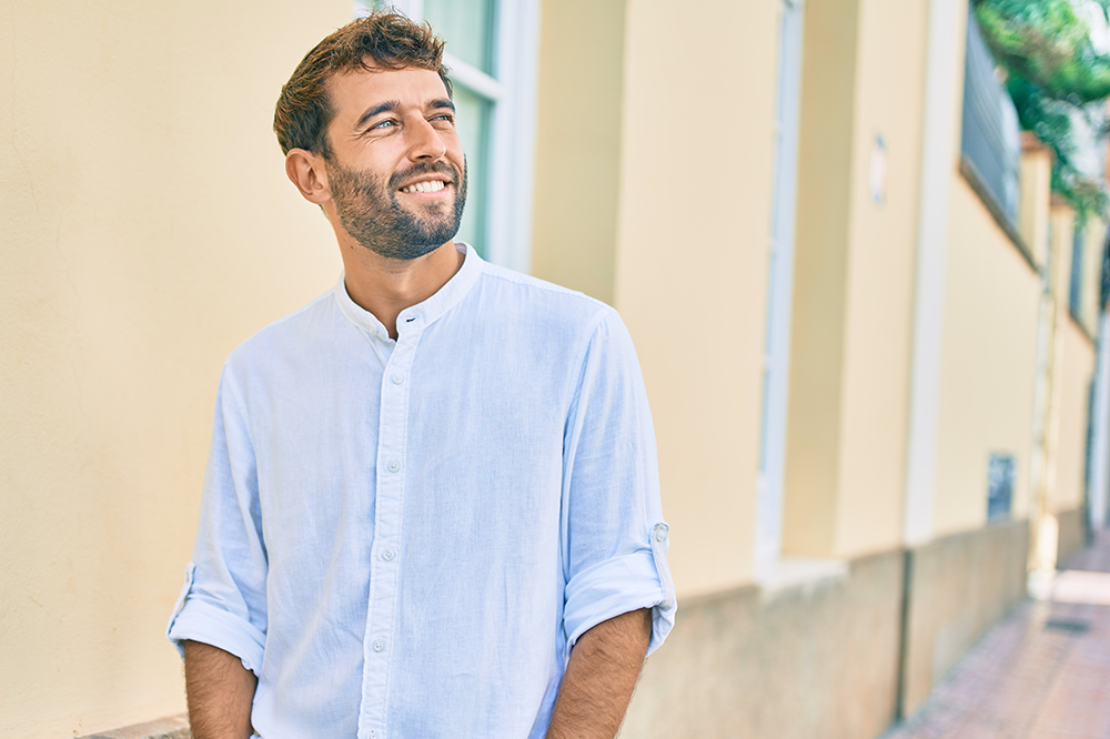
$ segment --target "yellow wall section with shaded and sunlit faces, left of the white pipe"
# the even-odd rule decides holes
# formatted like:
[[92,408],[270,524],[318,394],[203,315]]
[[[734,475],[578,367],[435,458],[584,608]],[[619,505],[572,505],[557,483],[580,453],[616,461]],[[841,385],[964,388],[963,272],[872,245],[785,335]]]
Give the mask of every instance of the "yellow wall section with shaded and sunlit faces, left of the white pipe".
[[[924,0],[807,7],[785,548],[897,547],[925,68]],[[875,201],[876,141],[887,178]]]

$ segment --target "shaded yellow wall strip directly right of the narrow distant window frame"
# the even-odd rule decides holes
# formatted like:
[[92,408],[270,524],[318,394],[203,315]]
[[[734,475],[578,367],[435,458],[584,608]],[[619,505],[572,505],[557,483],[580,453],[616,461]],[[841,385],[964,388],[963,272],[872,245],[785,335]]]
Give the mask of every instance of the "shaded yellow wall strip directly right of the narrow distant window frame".
[[830,555],[839,487],[859,0],[806,6],[783,547]]

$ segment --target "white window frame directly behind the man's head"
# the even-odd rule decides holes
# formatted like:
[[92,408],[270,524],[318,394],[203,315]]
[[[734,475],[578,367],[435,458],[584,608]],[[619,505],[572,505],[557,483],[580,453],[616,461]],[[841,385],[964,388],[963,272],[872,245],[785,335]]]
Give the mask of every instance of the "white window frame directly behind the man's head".
[[[386,4],[423,20],[423,0]],[[355,0],[354,16],[371,12],[373,0]],[[495,75],[445,52],[453,83],[493,105],[487,142],[485,255],[495,264],[532,267],[532,194],[535,179],[536,88],[539,64],[539,0],[496,0]],[[450,48],[450,45],[448,45]]]

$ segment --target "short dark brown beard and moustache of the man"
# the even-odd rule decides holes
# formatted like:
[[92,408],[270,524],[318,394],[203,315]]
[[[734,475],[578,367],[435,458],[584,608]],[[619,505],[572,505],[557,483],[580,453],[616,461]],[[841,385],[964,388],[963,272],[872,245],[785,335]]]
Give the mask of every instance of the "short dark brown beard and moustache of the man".
[[[397,199],[401,183],[433,173],[444,175],[444,182],[455,189],[453,203],[417,203],[415,212],[404,207]],[[389,182],[363,170],[329,163],[327,181],[335,213],[346,232],[363,247],[386,259],[420,259],[458,233],[466,204],[465,160],[462,173],[444,162],[434,162],[397,172]]]

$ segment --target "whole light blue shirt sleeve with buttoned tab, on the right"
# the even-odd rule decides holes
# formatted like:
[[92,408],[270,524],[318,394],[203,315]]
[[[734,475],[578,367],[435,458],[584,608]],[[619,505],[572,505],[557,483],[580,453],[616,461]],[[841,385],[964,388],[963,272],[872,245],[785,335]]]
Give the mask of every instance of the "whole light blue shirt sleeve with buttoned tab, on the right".
[[675,622],[669,529],[643,375],[632,337],[612,310],[604,312],[585,350],[567,414],[563,465],[568,645],[604,620],[652,608],[650,654]]

